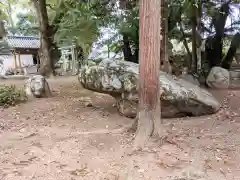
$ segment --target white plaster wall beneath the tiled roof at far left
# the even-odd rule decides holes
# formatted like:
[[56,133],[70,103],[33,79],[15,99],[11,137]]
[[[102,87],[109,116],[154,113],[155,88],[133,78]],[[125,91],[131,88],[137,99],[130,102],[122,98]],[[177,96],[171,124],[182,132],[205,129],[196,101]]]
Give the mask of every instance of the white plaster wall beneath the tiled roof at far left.
[[[14,68],[14,56],[13,55],[0,55],[0,59],[3,60],[3,67],[0,68],[0,75],[4,75],[9,68]],[[21,66],[31,66],[33,65],[32,55],[21,54]],[[18,55],[16,56],[17,66],[19,66]]]

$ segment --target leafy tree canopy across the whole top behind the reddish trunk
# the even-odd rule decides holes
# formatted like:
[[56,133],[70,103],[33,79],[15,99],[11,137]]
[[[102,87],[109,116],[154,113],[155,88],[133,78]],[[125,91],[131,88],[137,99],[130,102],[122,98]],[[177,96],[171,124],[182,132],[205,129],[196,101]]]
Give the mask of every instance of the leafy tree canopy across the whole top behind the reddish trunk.
[[[1,1],[1,20],[5,22],[8,34],[24,36],[41,34],[34,2],[35,0]],[[48,0],[44,2],[48,16],[47,23],[52,28],[51,36],[56,46],[76,44],[87,56],[93,44],[98,42],[98,48],[107,45],[108,51],[121,53],[125,60],[138,63],[138,1]],[[25,11],[14,14],[13,7],[21,7]],[[172,40],[182,42],[189,62],[191,61],[189,64],[194,66],[196,59],[202,58],[198,51],[200,45],[207,42],[205,60],[211,61],[210,56],[213,54],[217,57],[214,60],[216,62],[211,61],[208,64],[210,66],[222,64],[225,68],[229,68],[235,52],[232,50],[237,49],[238,46],[238,43],[235,43],[238,41],[235,39],[238,38],[240,29],[239,0],[169,0],[165,8],[168,9],[165,15],[168,19],[165,35],[170,50],[174,47]],[[116,34],[101,40],[106,33],[102,31],[104,28],[114,29]],[[223,48],[222,42],[231,39],[234,40],[229,44],[234,48],[229,54],[223,51],[226,47]],[[192,46],[189,46],[189,43]]]

